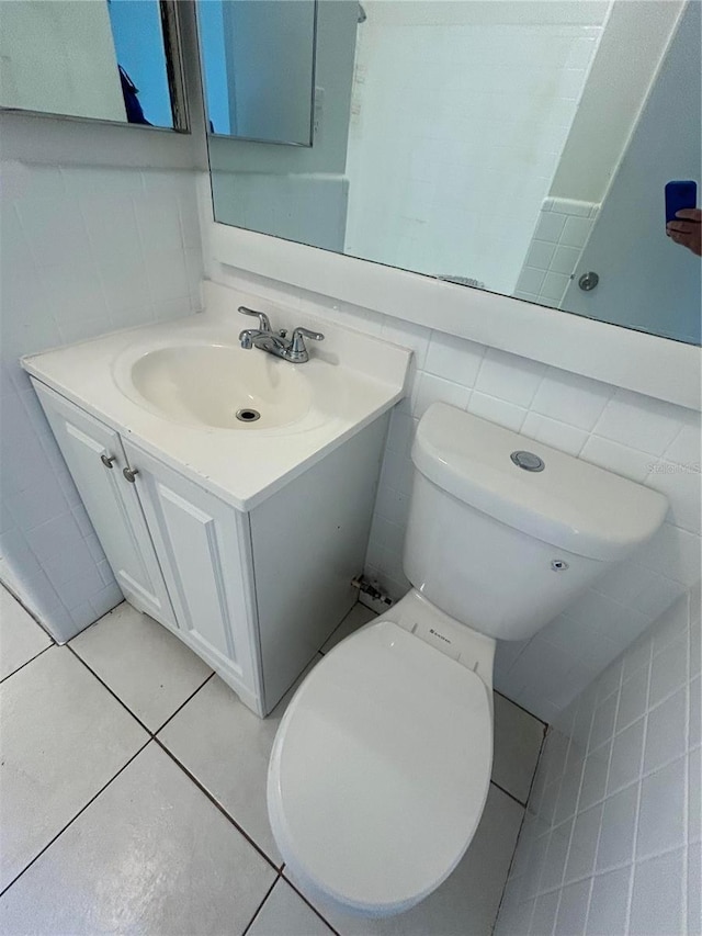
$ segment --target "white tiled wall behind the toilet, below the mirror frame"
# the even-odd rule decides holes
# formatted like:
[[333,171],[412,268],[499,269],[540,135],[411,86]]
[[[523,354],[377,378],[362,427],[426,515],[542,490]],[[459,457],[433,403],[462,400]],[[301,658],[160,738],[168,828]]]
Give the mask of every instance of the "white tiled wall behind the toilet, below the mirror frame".
[[[206,207],[206,201],[203,199]],[[203,217],[206,224],[206,217]],[[205,227],[206,229],[206,227]],[[531,641],[499,644],[495,685],[553,721],[570,700],[700,575],[700,414],[556,368],[242,273],[205,257],[211,279],[299,311],[333,317],[410,347],[416,370],[395,410],[365,572],[395,598],[401,567],[417,421],[444,401],[663,490],[663,529]]]

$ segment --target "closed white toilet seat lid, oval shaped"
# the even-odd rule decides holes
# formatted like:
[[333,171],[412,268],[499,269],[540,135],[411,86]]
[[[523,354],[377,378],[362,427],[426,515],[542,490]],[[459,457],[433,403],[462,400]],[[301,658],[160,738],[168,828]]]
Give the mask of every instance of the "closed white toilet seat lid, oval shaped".
[[491,762],[483,680],[378,621],[328,653],[283,717],[268,777],[273,834],[313,895],[399,913],[463,857]]

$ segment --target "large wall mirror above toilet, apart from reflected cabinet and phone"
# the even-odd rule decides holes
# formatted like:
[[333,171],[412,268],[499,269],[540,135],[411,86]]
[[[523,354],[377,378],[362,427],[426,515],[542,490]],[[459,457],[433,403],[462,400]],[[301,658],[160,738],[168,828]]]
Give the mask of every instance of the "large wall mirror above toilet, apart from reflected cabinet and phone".
[[700,343],[700,74],[697,0],[318,0],[313,146],[211,139],[215,217]]

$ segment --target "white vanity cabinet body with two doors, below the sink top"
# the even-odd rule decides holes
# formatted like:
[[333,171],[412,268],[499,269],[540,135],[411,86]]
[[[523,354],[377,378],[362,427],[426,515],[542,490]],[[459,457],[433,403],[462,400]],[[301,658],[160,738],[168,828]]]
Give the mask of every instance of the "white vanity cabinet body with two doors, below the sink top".
[[268,714],[356,600],[389,414],[241,510],[32,382],[125,597]]

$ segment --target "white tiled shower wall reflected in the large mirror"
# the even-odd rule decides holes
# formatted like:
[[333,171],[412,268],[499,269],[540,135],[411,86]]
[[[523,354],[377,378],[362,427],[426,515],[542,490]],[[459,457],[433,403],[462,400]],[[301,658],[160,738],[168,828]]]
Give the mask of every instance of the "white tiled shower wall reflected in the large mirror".
[[346,252],[511,294],[610,3],[364,8]]

